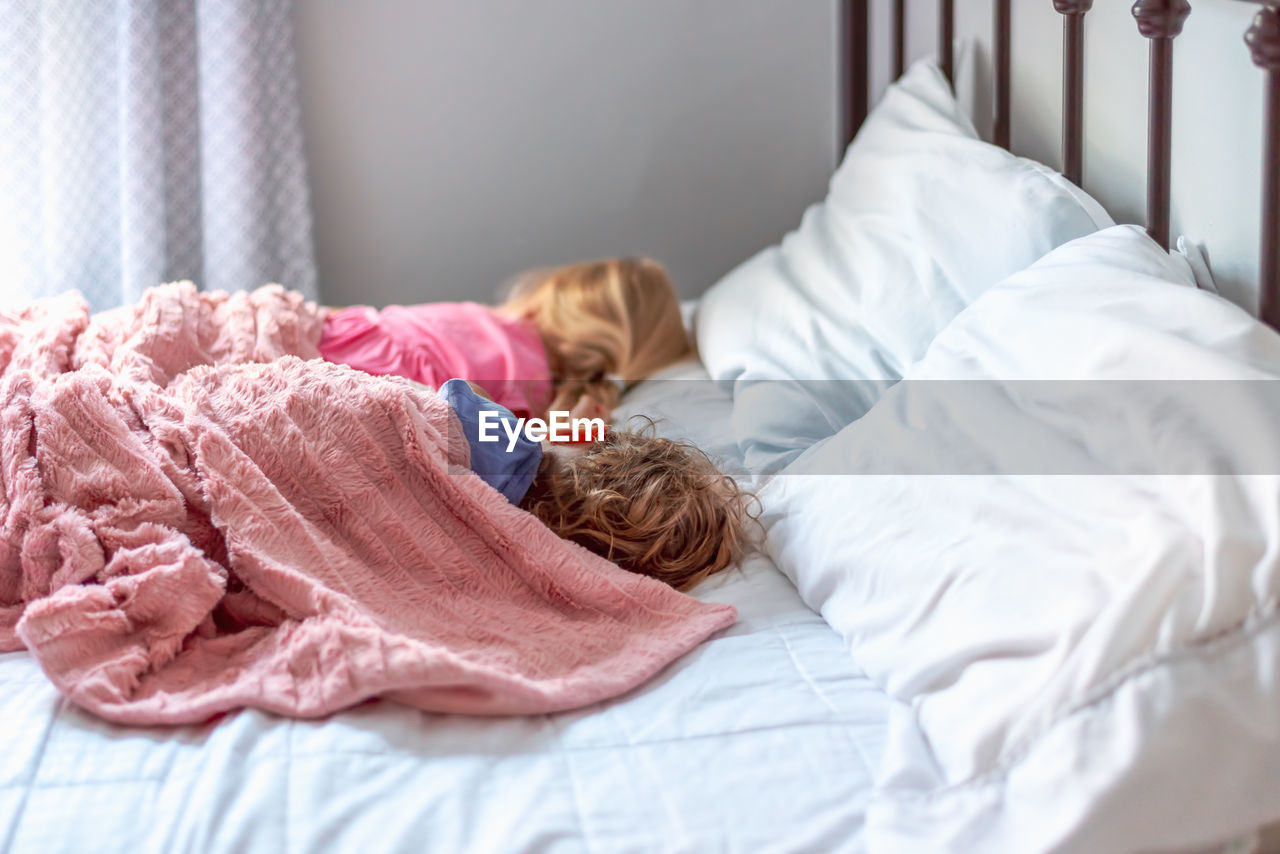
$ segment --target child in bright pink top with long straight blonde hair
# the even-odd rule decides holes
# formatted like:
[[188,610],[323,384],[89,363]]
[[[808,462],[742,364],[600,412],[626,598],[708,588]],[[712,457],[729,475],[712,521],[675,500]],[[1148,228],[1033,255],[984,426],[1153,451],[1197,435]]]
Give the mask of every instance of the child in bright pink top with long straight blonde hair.
[[332,309],[319,350],[328,361],[433,388],[461,376],[520,415],[575,417],[607,415],[620,384],[694,355],[671,279],[645,259],[525,274],[497,307]]

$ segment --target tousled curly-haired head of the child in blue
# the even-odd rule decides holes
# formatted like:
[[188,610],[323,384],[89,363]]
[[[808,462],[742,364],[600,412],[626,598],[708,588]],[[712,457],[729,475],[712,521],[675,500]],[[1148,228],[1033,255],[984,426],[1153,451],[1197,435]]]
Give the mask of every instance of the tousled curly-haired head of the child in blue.
[[741,556],[748,501],[698,448],[611,431],[577,456],[544,455],[520,506],[622,568],[686,590]]

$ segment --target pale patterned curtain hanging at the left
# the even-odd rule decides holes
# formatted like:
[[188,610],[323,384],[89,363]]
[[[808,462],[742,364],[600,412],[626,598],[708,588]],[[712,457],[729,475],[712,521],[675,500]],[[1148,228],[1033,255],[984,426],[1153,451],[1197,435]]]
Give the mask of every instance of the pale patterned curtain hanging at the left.
[[0,0],[0,297],[315,296],[289,0]]

